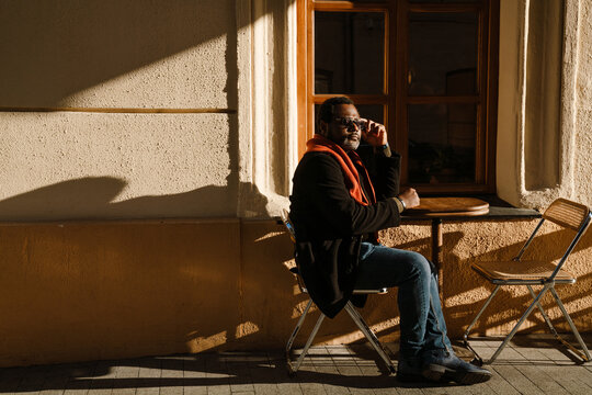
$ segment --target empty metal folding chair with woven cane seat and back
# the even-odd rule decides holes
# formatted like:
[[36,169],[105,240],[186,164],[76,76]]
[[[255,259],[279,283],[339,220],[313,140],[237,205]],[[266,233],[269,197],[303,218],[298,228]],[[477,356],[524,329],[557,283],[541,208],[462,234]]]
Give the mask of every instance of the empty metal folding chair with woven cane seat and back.
[[[553,202],[549,207],[545,211],[543,214],[543,218],[532,233],[531,237],[517,256],[511,260],[511,261],[501,261],[501,262],[480,262],[480,263],[473,263],[471,268],[481,276],[483,276],[486,280],[491,282],[496,285],[493,289],[493,292],[491,295],[487,298],[485,305],[481,307],[479,313],[477,313],[477,316],[473,319],[470,325],[468,326],[467,330],[464,334],[464,340],[465,346],[470,349],[475,353],[475,362],[477,363],[483,363],[482,359],[475,352],[475,350],[469,346],[468,343],[468,335],[470,329],[475,326],[486,307],[489,305],[493,296],[498,293],[501,286],[504,285],[525,285],[532,297],[533,302],[526,308],[526,312],[522,315],[522,317],[519,319],[516,325],[512,328],[510,334],[504,338],[503,342],[500,345],[500,347],[496,350],[491,359],[487,361],[487,363],[492,363],[500,352],[503,350],[503,348],[508,345],[508,342],[512,339],[512,337],[516,334],[521,325],[526,320],[528,315],[533,312],[535,307],[538,308],[540,314],[543,315],[543,318],[547,323],[547,326],[549,327],[551,334],[561,341],[566,347],[568,347],[570,350],[572,350],[576,354],[578,354],[584,362],[590,361],[590,352],[588,351],[588,348],[585,347],[585,343],[583,342],[580,334],[578,332],[578,329],[573,325],[573,321],[571,317],[569,316],[568,312],[566,311],[566,307],[561,303],[561,300],[559,298],[559,295],[557,295],[557,292],[555,291],[555,284],[573,284],[576,283],[576,278],[570,274],[569,272],[562,270],[563,264],[566,263],[566,260],[568,259],[569,255],[582,237],[582,235],[588,229],[588,226],[590,225],[590,221],[592,218],[592,214],[590,213],[590,208],[578,204],[574,202],[570,202],[566,199],[558,199],[555,202]],[[521,260],[522,256],[524,255],[524,251],[528,248],[533,239],[535,238],[536,234],[545,223],[545,221],[553,222],[563,228],[571,229],[576,233],[574,237],[571,239],[569,246],[567,247],[566,252],[559,260],[557,264],[554,264],[551,260]],[[533,291],[533,285],[542,285],[543,289],[538,292],[538,294],[535,294]],[[551,325],[551,321],[547,314],[545,313],[540,298],[549,292],[557,305],[559,306],[559,309],[563,314],[563,317],[569,324],[569,327],[571,328],[571,331],[576,336],[576,339],[580,343],[580,347],[582,351],[578,350],[576,347],[573,347],[568,341],[563,340],[555,327]]]

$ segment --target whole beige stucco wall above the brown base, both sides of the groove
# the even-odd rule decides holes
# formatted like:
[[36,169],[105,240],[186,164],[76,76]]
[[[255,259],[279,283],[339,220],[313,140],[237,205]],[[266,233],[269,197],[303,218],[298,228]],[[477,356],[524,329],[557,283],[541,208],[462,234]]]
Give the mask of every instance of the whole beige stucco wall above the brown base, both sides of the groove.
[[0,219],[236,215],[234,1],[4,0],[0,36]]

